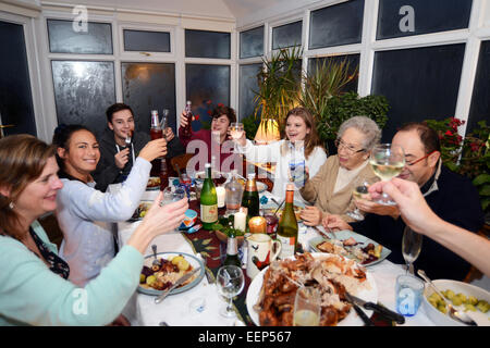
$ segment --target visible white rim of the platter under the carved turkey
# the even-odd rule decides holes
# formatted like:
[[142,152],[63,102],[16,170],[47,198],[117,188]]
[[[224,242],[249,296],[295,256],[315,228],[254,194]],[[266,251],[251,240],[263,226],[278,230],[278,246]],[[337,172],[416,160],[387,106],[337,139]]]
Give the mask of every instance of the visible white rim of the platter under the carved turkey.
[[[311,256],[314,258],[318,258],[320,256],[324,256],[323,252],[311,252]],[[254,310],[254,304],[257,303],[257,300],[259,298],[260,289],[262,288],[264,283],[264,275],[266,274],[269,266],[260,271],[259,274],[255,276],[255,278],[252,281],[250,286],[248,287],[246,302],[247,302],[247,311],[250,315],[252,321],[257,326],[260,326],[259,322],[259,314]],[[365,301],[368,302],[378,302],[378,287],[376,286],[375,277],[369,272],[366,271],[366,282],[369,283],[370,289],[363,289],[362,291],[357,294],[352,294]],[[370,318],[372,315],[372,311],[363,309],[363,311]],[[338,326],[364,326],[363,320],[359,318],[359,315],[356,313],[354,308],[351,308],[351,311],[348,312],[347,316],[345,316],[340,323],[338,323]]]

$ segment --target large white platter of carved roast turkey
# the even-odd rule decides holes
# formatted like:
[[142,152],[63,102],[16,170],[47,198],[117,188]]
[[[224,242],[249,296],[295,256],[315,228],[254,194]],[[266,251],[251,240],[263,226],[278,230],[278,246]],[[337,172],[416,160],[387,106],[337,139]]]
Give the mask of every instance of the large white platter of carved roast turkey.
[[[375,278],[364,266],[338,254],[305,252],[273,261],[255,276],[246,297],[252,321],[258,326],[291,326],[299,285],[320,290],[321,326],[364,325],[345,300],[345,291],[366,301],[378,302]],[[368,316],[372,314],[372,311],[365,312]]]

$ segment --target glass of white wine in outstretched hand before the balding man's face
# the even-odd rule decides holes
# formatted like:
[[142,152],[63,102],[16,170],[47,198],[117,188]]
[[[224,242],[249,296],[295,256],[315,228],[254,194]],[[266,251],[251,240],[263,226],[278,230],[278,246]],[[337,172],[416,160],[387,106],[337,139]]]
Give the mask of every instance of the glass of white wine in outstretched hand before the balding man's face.
[[[369,164],[381,181],[389,182],[405,167],[405,152],[397,145],[380,144],[372,149]],[[377,202],[383,206],[396,206],[384,192]]]

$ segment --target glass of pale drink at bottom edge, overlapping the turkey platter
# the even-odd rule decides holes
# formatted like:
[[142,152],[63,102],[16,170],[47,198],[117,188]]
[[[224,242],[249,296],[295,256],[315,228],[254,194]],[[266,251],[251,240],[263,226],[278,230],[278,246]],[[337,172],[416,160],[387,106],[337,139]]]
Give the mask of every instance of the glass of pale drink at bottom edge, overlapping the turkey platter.
[[321,316],[320,291],[314,287],[302,286],[294,299],[294,326],[318,326]]

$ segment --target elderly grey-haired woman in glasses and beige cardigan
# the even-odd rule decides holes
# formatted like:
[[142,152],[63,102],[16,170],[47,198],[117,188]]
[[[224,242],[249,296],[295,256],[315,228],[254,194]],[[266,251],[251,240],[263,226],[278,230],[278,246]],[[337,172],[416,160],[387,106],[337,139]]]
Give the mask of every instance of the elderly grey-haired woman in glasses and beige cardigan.
[[338,154],[329,157],[299,190],[303,198],[314,204],[302,211],[301,217],[306,225],[319,225],[331,214],[340,215],[346,222],[355,221],[346,214],[356,208],[352,194],[354,183],[359,177],[368,183],[378,179],[368,162],[370,151],[380,138],[380,128],[366,116],[354,116],[340,126],[335,140]]

